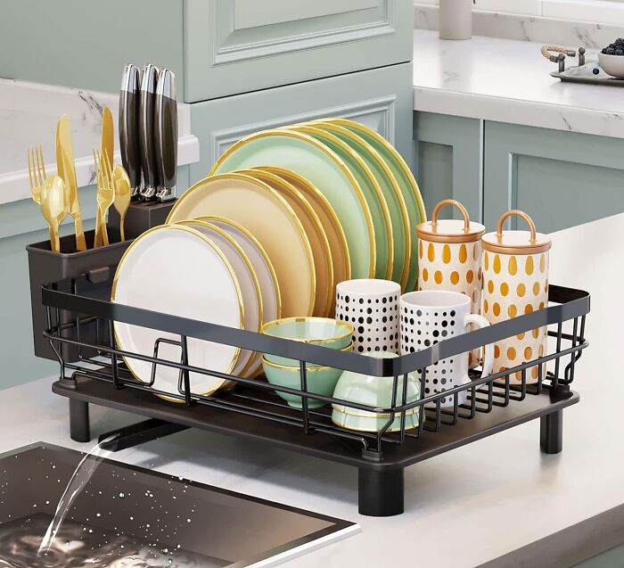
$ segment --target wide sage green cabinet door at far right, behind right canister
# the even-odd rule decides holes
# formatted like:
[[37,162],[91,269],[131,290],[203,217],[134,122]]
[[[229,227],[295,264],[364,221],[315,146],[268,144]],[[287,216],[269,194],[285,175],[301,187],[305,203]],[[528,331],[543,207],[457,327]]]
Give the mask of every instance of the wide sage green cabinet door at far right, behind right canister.
[[545,233],[624,211],[624,140],[486,122],[485,144],[489,226],[508,209]]

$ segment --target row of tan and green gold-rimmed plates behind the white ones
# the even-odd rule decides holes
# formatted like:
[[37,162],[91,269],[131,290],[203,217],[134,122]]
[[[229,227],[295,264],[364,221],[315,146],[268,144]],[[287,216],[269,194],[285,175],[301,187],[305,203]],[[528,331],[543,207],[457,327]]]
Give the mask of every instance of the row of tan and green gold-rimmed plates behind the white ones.
[[[243,138],[178,200],[168,222],[215,208],[265,246],[283,317],[332,316],[335,286],[349,278],[415,288],[423,199],[398,152],[357,122],[323,119]],[[287,247],[284,233],[296,225],[293,218],[301,238]]]

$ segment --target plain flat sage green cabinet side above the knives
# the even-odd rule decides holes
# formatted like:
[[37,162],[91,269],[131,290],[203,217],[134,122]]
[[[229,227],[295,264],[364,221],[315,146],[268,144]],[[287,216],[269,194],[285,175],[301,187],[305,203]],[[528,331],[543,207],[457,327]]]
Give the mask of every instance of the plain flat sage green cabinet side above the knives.
[[173,70],[184,100],[184,0],[2,0],[0,77],[116,93],[126,63]]

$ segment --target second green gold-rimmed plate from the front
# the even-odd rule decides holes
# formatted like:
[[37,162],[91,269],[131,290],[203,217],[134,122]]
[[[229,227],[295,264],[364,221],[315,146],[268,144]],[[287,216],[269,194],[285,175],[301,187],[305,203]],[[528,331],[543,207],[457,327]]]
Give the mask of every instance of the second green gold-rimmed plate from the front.
[[377,251],[377,263],[375,265],[375,278],[388,279],[392,276],[394,266],[394,243],[390,210],[386,202],[382,188],[377,183],[373,172],[368,168],[365,161],[355,152],[349,144],[345,144],[338,136],[316,128],[309,124],[298,124],[292,130],[313,136],[320,143],[327,146],[338,154],[344,161],[351,173],[356,177],[357,183],[364,191],[366,202],[371,210],[374,226],[375,247]]

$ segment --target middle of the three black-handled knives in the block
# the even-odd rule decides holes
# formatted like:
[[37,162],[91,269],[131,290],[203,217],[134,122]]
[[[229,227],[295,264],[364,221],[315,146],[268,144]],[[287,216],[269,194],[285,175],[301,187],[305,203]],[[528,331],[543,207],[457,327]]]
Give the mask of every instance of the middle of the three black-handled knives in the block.
[[141,195],[146,200],[155,198],[159,185],[156,144],[154,144],[154,109],[158,73],[158,68],[153,65],[145,65],[139,93],[139,148],[141,150],[141,169],[143,170]]

